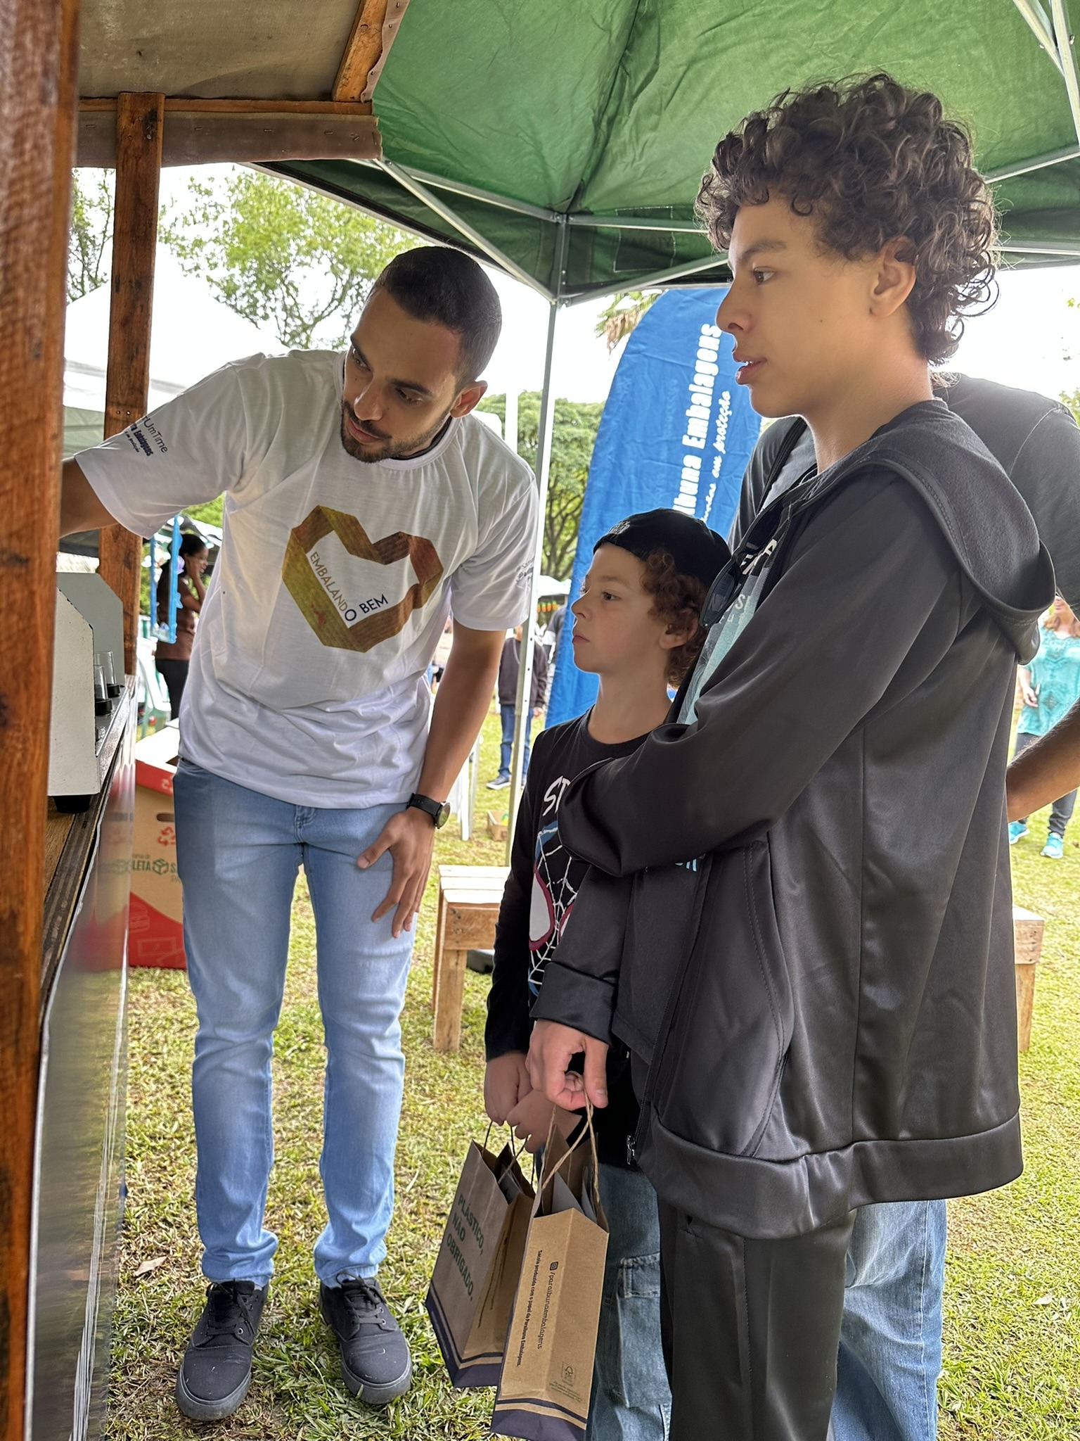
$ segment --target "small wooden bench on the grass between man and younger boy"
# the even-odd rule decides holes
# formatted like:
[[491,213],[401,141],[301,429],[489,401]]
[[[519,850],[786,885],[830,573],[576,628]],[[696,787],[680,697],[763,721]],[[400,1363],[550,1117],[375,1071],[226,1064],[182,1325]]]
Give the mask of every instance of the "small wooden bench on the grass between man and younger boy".
[[432,1009],[436,1050],[461,1045],[465,955],[495,941],[507,866],[439,866],[439,911],[435,921]]

